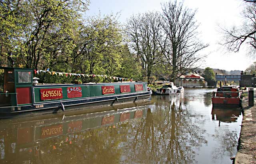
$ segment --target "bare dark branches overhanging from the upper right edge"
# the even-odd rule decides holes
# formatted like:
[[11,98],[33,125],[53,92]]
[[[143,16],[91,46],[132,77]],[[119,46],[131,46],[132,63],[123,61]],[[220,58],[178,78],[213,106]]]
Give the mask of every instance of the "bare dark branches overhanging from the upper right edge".
[[[252,1],[246,1],[252,2]],[[246,3],[242,12],[244,22],[242,26],[234,26],[231,29],[222,28],[224,43],[230,51],[238,52],[242,45],[250,45],[248,53],[256,53],[256,4]]]

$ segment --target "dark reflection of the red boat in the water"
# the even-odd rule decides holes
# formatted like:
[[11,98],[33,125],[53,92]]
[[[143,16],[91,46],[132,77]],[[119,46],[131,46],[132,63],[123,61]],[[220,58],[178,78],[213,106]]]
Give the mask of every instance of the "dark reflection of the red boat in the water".
[[212,120],[219,121],[219,126],[220,122],[236,122],[241,112],[240,108],[212,108]]

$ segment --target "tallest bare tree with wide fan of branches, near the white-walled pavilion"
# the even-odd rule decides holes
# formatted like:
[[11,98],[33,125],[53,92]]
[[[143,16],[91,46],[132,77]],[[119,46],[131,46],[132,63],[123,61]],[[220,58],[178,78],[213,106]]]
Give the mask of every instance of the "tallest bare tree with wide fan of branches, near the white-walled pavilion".
[[183,2],[162,4],[160,25],[164,32],[159,44],[162,63],[171,72],[171,81],[175,81],[177,75],[199,67],[198,62],[204,57],[199,51],[208,46],[197,38],[199,24],[195,14],[196,10],[184,7]]

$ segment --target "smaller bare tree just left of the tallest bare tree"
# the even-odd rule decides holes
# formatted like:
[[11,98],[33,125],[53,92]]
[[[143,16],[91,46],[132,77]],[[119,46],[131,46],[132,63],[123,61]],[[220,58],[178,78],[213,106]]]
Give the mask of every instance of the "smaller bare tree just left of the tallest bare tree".
[[140,57],[144,76],[150,76],[158,56],[160,24],[157,12],[130,17],[126,25],[129,47]]

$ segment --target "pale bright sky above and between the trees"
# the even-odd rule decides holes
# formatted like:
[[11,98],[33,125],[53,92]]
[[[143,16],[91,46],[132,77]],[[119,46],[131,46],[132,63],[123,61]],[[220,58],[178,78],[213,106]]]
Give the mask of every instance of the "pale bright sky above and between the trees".
[[[86,16],[96,16],[120,13],[119,21],[123,24],[133,14],[148,11],[161,11],[161,3],[167,0],[90,0]],[[190,9],[197,9],[195,16],[200,26],[200,40],[208,43],[209,47],[201,53],[207,55],[201,68],[245,70],[255,59],[246,55],[246,46],[237,53],[228,51],[219,43],[223,40],[220,27],[231,28],[242,24],[240,13],[243,10],[242,0],[184,0]]]

